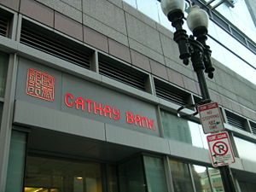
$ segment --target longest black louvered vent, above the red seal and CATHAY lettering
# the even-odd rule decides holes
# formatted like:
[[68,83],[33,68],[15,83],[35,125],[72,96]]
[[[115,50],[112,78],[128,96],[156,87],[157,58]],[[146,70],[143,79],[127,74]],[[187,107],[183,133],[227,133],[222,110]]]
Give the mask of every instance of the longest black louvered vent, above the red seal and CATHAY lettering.
[[20,42],[62,60],[90,68],[90,49],[26,20],[21,27]]

